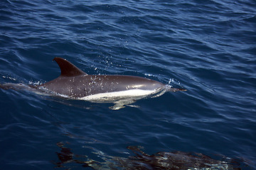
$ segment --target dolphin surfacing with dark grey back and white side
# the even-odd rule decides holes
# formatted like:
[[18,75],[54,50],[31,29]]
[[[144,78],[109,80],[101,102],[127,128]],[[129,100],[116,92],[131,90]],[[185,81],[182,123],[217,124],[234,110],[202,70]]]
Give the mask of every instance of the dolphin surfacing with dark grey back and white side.
[[[134,103],[141,98],[161,96],[166,91],[186,91],[143,77],[88,75],[68,60],[60,57],[55,57],[53,60],[60,67],[60,76],[45,84],[31,86],[33,89],[41,89],[65,98],[115,103],[111,107],[113,110],[124,108],[124,105]],[[4,89],[3,84],[0,87]]]

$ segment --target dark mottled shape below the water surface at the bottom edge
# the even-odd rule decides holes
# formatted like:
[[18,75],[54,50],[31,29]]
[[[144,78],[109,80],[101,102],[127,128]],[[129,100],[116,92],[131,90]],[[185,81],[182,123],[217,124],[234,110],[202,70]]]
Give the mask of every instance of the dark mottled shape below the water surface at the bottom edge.
[[[74,164],[81,164],[83,167],[91,169],[241,169],[240,159],[230,159],[221,157],[220,160],[212,159],[201,153],[188,152],[157,152],[156,154],[146,154],[142,152],[141,147],[129,146],[134,152],[134,156],[130,157],[112,157],[97,152],[101,159],[105,162],[98,162],[89,159],[85,155],[74,154],[70,148],[65,147],[63,142],[57,143],[60,147],[58,154],[59,162],[53,162],[56,168],[72,169]],[[82,160],[86,159],[86,160]]]

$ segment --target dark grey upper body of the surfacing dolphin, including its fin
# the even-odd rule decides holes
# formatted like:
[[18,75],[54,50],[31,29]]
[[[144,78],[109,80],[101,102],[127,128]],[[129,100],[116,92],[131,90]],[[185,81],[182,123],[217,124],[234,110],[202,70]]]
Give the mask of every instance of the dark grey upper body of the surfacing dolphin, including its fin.
[[[60,57],[53,59],[58,63],[61,74],[57,79],[48,81],[41,86],[49,91],[69,96],[82,98],[92,94],[102,94],[114,91],[127,91],[130,89],[151,90],[165,86],[159,81],[143,77],[122,75],[88,75],[75,67],[74,64]],[[185,91],[185,89],[171,88],[169,91]]]

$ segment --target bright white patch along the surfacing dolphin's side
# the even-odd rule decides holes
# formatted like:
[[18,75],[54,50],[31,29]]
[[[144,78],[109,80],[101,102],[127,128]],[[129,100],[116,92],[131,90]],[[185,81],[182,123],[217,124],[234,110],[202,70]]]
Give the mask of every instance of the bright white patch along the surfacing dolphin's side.
[[100,99],[107,99],[107,98],[117,98],[117,97],[139,97],[139,96],[148,96],[151,94],[155,94],[157,91],[149,91],[149,90],[140,90],[140,89],[132,89],[127,91],[114,91],[109,93],[102,93],[102,94],[92,94],[90,96],[85,96],[79,98],[80,100],[85,101],[95,101]]

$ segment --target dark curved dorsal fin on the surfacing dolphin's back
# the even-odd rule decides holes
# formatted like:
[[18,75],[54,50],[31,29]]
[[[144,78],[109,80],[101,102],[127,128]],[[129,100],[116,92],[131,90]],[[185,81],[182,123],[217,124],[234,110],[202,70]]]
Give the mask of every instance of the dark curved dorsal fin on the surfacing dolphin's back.
[[78,69],[78,67],[75,67],[74,64],[71,62],[68,62],[68,60],[65,60],[60,57],[55,57],[53,59],[55,62],[58,63],[60,67],[61,74],[60,76],[63,77],[74,77],[79,75],[87,75],[85,72],[82,72],[82,70]]

